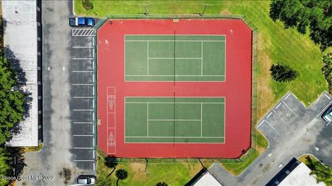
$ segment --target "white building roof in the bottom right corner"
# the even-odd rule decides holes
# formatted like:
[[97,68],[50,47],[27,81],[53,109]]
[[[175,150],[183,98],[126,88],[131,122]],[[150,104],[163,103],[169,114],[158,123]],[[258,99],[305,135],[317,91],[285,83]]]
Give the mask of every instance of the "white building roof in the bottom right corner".
[[311,169],[302,162],[278,186],[326,186],[323,182],[317,183],[310,173]]

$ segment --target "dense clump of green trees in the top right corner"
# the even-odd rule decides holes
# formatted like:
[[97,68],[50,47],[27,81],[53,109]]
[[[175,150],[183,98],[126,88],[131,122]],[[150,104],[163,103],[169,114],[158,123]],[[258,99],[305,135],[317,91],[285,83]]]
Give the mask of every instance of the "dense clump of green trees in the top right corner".
[[332,46],[331,0],[272,0],[270,18],[282,21],[285,28],[296,28],[302,34],[310,31],[311,40],[322,51]]

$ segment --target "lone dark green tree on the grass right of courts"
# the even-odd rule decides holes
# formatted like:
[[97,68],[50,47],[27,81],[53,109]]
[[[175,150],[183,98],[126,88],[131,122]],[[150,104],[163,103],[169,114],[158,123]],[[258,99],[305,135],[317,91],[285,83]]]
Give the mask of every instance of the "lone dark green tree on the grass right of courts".
[[299,76],[299,72],[293,70],[288,65],[282,65],[280,63],[273,64],[270,68],[271,76],[278,82],[293,81]]

